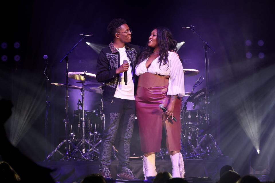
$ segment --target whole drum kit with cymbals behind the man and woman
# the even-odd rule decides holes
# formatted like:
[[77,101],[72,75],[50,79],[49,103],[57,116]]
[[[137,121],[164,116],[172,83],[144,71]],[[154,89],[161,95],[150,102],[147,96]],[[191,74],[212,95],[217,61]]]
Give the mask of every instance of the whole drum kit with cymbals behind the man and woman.
[[[196,69],[184,69],[184,76],[189,77],[199,74]],[[73,125],[70,126],[69,135],[69,153],[70,156],[67,160],[88,160],[95,161],[99,158],[99,147],[102,141],[102,134],[105,128],[105,116],[103,113],[103,83],[94,83],[96,81],[95,74],[84,72],[68,72],[68,77],[78,80],[77,83],[82,83],[82,87],[75,85],[68,85],[70,89],[76,89],[81,91],[82,101],[78,99],[77,110],[74,110]],[[85,84],[86,81],[93,82],[92,84]],[[67,87],[63,83],[51,83],[58,87]],[[195,87],[194,87],[195,88]],[[194,90],[193,88],[193,90]],[[205,140],[205,136],[201,137],[201,127],[206,123],[206,113],[204,110],[186,110],[187,102],[194,103],[194,106],[200,105],[203,107],[205,102],[205,90],[201,89],[196,93],[186,92],[185,96],[189,96],[185,101],[185,105],[181,110],[181,124],[182,124],[182,152],[184,158],[190,158],[202,153],[205,150],[201,147],[202,142]],[[93,92],[95,94],[101,94],[100,107],[97,110],[85,110],[85,91]],[[193,106],[193,108],[195,108]],[[80,109],[82,107],[82,109]],[[140,151],[140,141],[138,134],[137,122],[135,123],[133,136],[131,139],[130,147],[130,159],[143,158],[143,153]],[[210,135],[210,138],[215,141]],[[46,158],[48,160],[55,152],[62,154],[58,149],[65,143],[62,141]],[[215,142],[214,142],[215,143]],[[215,143],[216,144],[216,143]],[[113,146],[112,158],[117,160],[116,144]],[[217,146],[217,144],[216,144]],[[217,147],[219,148],[219,147]],[[220,150],[219,150],[220,152]],[[220,152],[221,153],[221,152]],[[162,156],[164,152],[160,152],[157,157]],[[65,156],[64,156],[65,158]],[[62,158],[63,159],[63,158]]]

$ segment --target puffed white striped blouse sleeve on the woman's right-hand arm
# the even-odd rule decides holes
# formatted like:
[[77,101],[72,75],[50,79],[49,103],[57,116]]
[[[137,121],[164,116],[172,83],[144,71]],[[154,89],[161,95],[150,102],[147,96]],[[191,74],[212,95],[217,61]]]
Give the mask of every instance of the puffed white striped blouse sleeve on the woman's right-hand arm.
[[[184,75],[183,67],[178,55],[174,52],[169,52],[170,59],[170,77],[167,95],[178,95],[179,97],[184,96]],[[169,58],[168,56],[168,58]]]

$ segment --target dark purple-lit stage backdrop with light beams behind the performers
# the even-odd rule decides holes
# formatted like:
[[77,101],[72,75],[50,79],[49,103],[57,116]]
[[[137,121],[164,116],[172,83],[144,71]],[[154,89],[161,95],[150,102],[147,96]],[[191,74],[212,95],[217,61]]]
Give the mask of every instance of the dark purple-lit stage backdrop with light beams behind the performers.
[[[79,33],[93,36],[80,42],[69,55],[70,71],[96,73],[97,53],[85,42],[108,45],[107,25],[123,18],[132,29],[131,43],[144,46],[154,27],[168,27],[178,42],[185,41],[178,54],[183,67],[198,69],[199,75],[186,77],[185,91],[190,92],[200,75],[205,76],[203,42],[183,25],[195,30],[215,49],[209,51],[209,87],[213,120],[211,133],[224,155],[235,160],[241,175],[249,173],[250,156],[255,153],[250,138],[236,114],[243,101],[255,104],[252,114],[261,122],[260,148],[269,157],[274,171],[274,3],[272,1],[13,1],[1,2],[0,98],[11,99],[13,116],[6,124],[11,142],[36,161],[45,157],[45,62],[48,55],[49,83],[65,83],[65,63],[59,61],[80,40]],[[245,45],[249,39],[252,45]],[[259,46],[258,40],[264,45]],[[19,42],[19,49],[13,47]],[[245,54],[252,53],[247,59]],[[260,59],[258,53],[265,57]],[[20,55],[20,61],[13,59]],[[70,84],[78,85],[70,79]],[[205,81],[195,90],[205,86]],[[51,101],[48,120],[48,151],[65,138],[65,88],[49,85]],[[69,92],[69,119],[77,109],[80,91]],[[86,93],[86,109],[96,110],[100,96]],[[250,103],[249,103],[250,104]],[[260,106],[260,107],[259,107]],[[188,104],[192,109],[192,104]],[[248,108],[250,110],[250,108]],[[250,111],[251,112],[251,111]],[[247,115],[247,114],[241,114]],[[260,121],[259,121],[260,119]],[[271,177],[272,178],[272,177]]]

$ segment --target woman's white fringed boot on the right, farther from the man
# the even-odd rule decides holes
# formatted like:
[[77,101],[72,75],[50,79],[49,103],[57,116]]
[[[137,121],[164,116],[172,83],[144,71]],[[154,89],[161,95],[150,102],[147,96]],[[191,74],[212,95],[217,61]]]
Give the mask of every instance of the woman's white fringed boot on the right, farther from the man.
[[179,152],[177,154],[170,155],[170,158],[171,158],[172,167],[173,167],[173,171],[172,171],[173,178],[175,177],[184,178],[185,172],[184,172],[184,162],[183,162],[182,154]]

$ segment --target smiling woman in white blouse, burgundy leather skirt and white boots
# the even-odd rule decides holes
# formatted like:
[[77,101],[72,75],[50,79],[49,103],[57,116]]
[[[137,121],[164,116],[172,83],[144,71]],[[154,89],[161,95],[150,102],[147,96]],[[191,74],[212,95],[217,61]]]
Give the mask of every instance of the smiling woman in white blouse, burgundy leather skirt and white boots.
[[[162,126],[172,161],[172,176],[184,177],[180,153],[180,97],[184,96],[184,76],[178,55],[171,52],[177,50],[176,44],[169,29],[154,29],[135,68],[135,74],[139,76],[135,106],[145,178],[157,174],[155,153],[160,151]],[[166,113],[159,108],[160,104],[167,108]],[[170,118],[173,116],[177,122]]]

